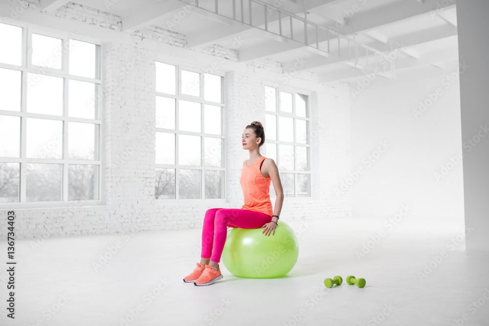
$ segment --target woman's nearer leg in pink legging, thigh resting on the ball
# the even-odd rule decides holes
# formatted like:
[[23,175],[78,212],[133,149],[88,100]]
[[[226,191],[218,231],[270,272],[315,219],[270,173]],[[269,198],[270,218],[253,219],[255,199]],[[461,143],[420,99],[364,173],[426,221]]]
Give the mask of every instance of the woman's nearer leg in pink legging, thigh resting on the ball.
[[222,250],[226,242],[227,226],[258,229],[270,222],[271,219],[272,217],[265,213],[246,209],[225,208],[218,210],[214,218],[212,256],[208,265],[217,268],[218,262],[221,261]]

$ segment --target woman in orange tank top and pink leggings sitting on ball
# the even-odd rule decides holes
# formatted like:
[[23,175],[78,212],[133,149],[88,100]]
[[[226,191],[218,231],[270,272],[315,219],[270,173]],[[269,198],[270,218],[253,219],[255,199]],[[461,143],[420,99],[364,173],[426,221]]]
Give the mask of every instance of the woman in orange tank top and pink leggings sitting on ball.
[[[265,143],[265,131],[260,122],[254,121],[243,132],[242,146],[249,151],[249,159],[244,161],[240,183],[244,205],[241,209],[212,208],[205,212],[202,227],[202,251],[200,263],[194,271],[183,279],[195,285],[210,285],[222,279],[219,261],[226,242],[227,227],[242,229],[265,228],[262,234],[275,234],[280,211],[284,202],[284,192],[277,166],[271,158],[260,155],[259,148]],[[277,199],[272,208],[270,181]]]

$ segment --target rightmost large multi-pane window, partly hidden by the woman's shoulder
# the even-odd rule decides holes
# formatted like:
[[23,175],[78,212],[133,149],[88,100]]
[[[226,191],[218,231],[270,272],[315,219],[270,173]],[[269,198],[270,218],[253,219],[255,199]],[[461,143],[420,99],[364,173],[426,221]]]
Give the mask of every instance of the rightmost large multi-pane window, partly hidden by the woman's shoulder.
[[[265,86],[267,157],[277,163],[286,197],[311,196],[309,96]],[[275,196],[270,184],[270,196]]]

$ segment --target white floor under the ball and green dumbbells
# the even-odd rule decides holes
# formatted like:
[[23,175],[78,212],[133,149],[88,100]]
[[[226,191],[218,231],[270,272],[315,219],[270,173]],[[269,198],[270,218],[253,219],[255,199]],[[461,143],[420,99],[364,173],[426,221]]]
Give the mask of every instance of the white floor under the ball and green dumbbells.
[[[221,263],[224,278],[203,287],[182,281],[200,229],[17,240],[16,318],[5,316],[2,268],[0,325],[489,325],[489,252],[465,251],[462,221],[384,221],[289,222],[300,252],[286,277],[238,278]],[[358,259],[363,243],[372,248]],[[367,285],[326,288],[335,275]]]

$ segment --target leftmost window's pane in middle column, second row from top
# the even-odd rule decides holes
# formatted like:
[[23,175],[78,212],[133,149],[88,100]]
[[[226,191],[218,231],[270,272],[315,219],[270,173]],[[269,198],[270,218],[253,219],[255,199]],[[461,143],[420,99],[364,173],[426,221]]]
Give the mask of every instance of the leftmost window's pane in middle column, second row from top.
[[27,112],[63,115],[63,78],[29,72]]

